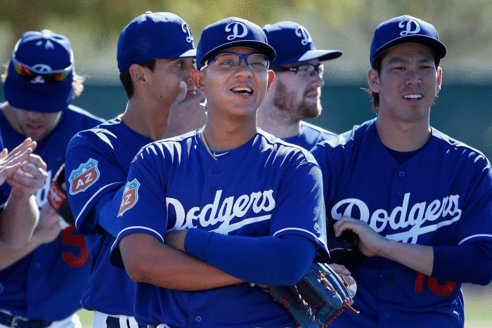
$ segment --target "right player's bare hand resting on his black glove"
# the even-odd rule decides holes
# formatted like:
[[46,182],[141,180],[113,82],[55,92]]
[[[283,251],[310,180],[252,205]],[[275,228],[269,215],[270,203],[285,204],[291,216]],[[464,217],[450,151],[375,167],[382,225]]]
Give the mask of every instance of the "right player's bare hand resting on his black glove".
[[389,245],[389,240],[370,228],[368,223],[355,218],[342,216],[333,228],[336,237],[345,230],[355,232],[358,235],[358,249],[365,256],[382,256],[384,248]]

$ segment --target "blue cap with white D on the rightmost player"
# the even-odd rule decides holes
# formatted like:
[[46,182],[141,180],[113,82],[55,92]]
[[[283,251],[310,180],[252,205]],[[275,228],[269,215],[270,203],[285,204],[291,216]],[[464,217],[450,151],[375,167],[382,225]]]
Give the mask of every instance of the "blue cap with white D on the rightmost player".
[[439,59],[446,55],[446,46],[439,41],[434,25],[419,18],[403,15],[377,25],[373,43],[370,45],[370,65],[373,66],[374,58],[387,49],[407,42],[426,46]]

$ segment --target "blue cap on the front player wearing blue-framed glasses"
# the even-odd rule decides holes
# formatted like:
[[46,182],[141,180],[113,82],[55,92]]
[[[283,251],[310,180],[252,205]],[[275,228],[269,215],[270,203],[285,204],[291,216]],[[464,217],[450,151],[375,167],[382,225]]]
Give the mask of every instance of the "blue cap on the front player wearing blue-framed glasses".
[[261,27],[249,20],[229,17],[203,29],[198,41],[197,67],[202,67],[212,55],[236,46],[256,49],[270,61],[275,59],[275,50],[266,41]]

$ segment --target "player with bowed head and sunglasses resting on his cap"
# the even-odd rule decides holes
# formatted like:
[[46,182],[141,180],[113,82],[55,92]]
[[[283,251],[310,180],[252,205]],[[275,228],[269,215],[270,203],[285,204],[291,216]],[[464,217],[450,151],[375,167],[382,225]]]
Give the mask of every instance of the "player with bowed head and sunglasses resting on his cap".
[[66,37],[47,29],[22,35],[8,63],[0,130],[8,149],[26,137],[36,140],[34,154],[46,162],[48,177],[36,193],[40,217],[30,242],[1,250],[2,261],[18,261],[0,271],[0,327],[80,327],[75,313],[89,275],[89,254],[74,225],[62,231],[47,195],[70,138],[103,122],[70,105],[81,86]]

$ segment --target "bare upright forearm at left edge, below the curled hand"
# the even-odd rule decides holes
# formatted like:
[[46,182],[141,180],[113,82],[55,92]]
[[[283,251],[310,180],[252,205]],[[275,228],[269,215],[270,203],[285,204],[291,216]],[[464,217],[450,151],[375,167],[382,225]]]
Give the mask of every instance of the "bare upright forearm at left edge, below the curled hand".
[[0,216],[1,240],[15,249],[23,247],[39,219],[35,197],[15,195],[13,190]]

